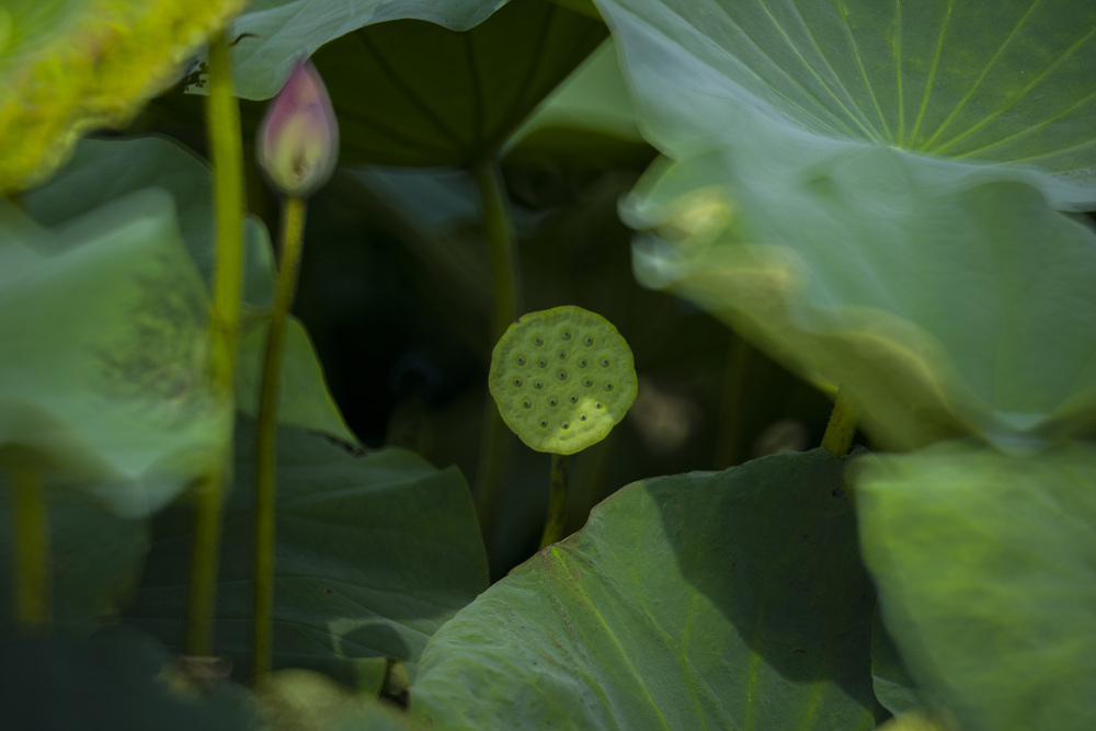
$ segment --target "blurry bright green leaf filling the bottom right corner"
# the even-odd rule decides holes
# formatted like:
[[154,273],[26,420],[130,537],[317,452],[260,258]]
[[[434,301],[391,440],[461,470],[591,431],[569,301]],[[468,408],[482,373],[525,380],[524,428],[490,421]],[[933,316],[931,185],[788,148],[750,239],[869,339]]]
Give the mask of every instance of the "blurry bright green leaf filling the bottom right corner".
[[964,729],[1096,722],[1096,449],[866,460],[864,556],[910,670]]

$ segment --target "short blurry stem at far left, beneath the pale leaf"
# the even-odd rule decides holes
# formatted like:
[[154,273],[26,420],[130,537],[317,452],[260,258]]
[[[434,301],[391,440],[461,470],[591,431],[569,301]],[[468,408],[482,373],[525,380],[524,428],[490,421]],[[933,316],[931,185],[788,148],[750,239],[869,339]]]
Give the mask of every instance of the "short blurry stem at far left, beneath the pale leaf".
[[49,516],[42,475],[31,467],[11,470],[15,488],[15,617],[31,635],[53,623],[49,581]]

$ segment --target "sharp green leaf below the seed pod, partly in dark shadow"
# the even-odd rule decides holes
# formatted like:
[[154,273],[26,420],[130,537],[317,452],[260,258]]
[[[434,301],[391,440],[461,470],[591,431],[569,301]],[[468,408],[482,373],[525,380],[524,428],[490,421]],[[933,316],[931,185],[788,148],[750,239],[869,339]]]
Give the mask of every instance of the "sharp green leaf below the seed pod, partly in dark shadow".
[[434,636],[437,728],[870,729],[875,598],[844,461],[629,486]]

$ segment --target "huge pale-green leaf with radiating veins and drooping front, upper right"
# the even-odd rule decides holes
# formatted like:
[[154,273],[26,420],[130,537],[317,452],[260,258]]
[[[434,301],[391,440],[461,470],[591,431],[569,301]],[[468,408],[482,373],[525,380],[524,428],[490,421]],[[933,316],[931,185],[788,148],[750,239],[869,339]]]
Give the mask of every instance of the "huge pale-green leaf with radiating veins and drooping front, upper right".
[[678,158],[627,207],[673,241],[640,279],[845,384],[887,446],[1087,430],[1094,237],[1048,202],[1094,198],[1094,11],[869,4],[600,3]]

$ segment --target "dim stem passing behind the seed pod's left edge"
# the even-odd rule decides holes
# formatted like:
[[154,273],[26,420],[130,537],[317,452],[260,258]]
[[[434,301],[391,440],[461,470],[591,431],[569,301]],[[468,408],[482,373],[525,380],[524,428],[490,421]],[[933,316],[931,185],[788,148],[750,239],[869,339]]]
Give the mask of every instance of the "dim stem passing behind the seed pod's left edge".
[[[502,173],[494,159],[472,168],[483,205],[483,231],[491,262],[494,311],[491,317],[491,342],[498,342],[514,320],[521,307],[521,275],[513,226],[503,192]],[[476,509],[484,540],[494,533],[499,491],[506,465],[510,430],[503,423],[492,399],[488,398],[483,418],[483,438],[479,469],[476,475]]]

